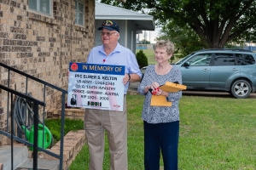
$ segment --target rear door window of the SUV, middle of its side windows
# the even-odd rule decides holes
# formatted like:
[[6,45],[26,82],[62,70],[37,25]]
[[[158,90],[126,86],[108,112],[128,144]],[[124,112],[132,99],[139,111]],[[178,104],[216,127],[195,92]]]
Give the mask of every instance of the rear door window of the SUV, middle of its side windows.
[[215,54],[213,65],[236,65],[233,54]]

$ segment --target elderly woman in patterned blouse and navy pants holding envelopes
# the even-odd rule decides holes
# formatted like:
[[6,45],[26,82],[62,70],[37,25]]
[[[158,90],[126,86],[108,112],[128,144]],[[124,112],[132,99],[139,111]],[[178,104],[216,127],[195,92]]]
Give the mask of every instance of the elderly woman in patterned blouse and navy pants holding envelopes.
[[[146,170],[160,169],[160,153],[162,154],[165,170],[177,169],[177,144],[179,133],[178,101],[182,92],[168,93],[160,89],[166,82],[182,84],[179,69],[170,65],[174,53],[174,45],[170,41],[156,42],[154,48],[156,65],[148,68],[137,91],[145,95],[143,104],[144,126],[144,166]],[[150,88],[153,91],[150,92]],[[152,106],[152,95],[163,95],[171,106]]]

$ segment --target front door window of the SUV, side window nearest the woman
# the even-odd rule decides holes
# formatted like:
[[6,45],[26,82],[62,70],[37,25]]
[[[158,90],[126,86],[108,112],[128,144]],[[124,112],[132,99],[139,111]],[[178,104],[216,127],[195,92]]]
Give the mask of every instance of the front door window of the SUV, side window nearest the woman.
[[190,66],[204,66],[210,65],[211,59],[212,54],[197,54],[188,61]]

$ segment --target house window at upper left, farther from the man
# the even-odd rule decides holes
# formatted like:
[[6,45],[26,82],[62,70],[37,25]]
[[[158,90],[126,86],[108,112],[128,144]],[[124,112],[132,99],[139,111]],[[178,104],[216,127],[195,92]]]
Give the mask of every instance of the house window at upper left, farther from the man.
[[29,0],[29,9],[51,15],[52,0]]

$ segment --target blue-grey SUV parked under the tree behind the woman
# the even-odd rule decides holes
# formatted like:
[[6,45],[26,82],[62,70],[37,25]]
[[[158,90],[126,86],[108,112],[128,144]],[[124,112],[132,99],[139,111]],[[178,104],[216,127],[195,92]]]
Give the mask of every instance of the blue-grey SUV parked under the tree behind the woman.
[[255,59],[245,49],[204,49],[172,65],[179,67],[187,89],[227,91],[244,99],[256,90]]

